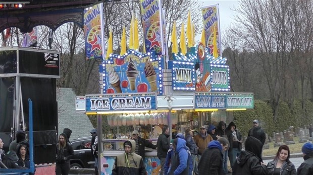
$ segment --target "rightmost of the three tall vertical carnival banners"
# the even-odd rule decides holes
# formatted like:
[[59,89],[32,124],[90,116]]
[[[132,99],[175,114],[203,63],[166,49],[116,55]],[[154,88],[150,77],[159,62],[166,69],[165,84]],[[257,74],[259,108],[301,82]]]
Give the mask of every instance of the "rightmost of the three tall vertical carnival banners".
[[202,7],[205,47],[216,58],[222,56],[219,5]]

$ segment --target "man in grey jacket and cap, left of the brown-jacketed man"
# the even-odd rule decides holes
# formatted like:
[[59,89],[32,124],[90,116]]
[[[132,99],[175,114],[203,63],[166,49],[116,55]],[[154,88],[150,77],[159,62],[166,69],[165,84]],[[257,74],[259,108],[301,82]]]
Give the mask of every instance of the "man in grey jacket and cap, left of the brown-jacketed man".
[[192,157],[192,166],[193,166],[193,173],[195,175],[198,175],[198,160],[197,160],[197,154],[198,154],[198,146],[193,140],[193,133],[191,129],[186,129],[185,131],[185,140],[186,140],[186,146],[190,149],[191,157]]

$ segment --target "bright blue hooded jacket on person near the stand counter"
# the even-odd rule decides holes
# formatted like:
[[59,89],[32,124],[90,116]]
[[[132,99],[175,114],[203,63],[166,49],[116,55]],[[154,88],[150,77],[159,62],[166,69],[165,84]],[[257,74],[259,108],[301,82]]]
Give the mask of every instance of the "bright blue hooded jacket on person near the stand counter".
[[189,175],[188,153],[185,149],[186,141],[177,138],[177,146],[171,159],[168,175]]

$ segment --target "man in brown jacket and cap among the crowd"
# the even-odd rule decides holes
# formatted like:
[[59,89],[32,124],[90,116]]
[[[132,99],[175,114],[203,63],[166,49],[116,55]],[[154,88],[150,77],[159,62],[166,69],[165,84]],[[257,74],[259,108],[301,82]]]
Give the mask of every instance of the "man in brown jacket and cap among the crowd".
[[213,141],[213,138],[210,134],[206,133],[205,126],[201,126],[199,134],[194,136],[193,139],[198,146],[198,160],[200,160],[204,149],[207,147],[208,143]]

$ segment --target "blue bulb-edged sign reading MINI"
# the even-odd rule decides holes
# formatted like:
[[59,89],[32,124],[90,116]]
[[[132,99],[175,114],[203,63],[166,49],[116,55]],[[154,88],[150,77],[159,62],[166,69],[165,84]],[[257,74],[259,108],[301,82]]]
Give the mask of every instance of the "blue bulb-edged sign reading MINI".
[[168,67],[172,70],[173,90],[195,90],[195,73],[193,62],[169,61]]

